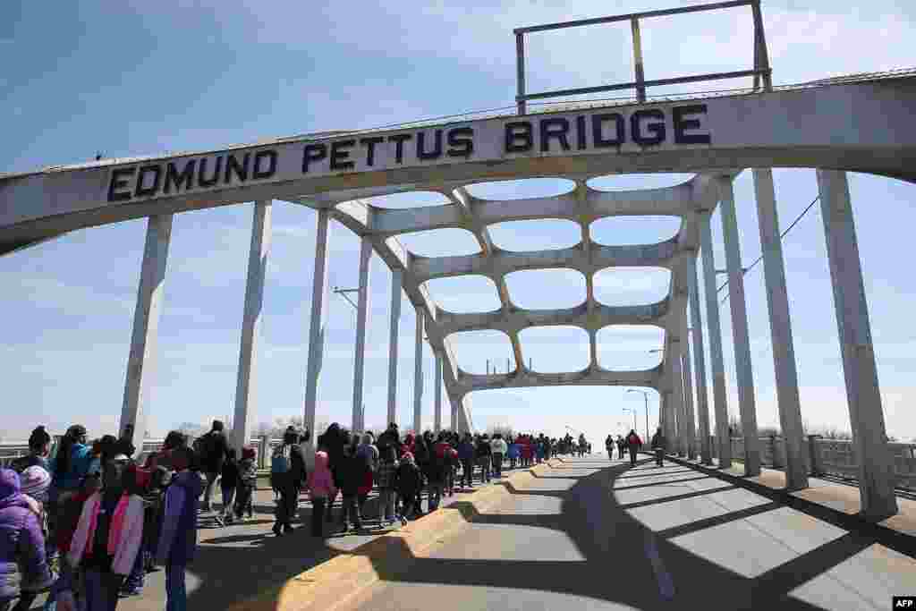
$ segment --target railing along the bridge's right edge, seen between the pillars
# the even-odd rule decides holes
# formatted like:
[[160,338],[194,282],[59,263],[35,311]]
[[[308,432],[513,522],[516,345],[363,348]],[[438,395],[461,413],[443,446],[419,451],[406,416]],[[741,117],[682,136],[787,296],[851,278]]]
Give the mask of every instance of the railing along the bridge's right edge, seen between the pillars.
[[[710,436],[713,457],[717,457],[714,436]],[[740,461],[744,456],[744,438],[732,437],[732,457]],[[808,435],[802,440],[805,469],[809,474],[831,475],[845,480],[858,478],[858,461],[853,442],[823,439],[820,435]],[[896,486],[904,490],[916,490],[916,443],[888,442],[894,463]],[[760,463],[773,469],[786,465],[786,446],[781,437],[760,438]]]

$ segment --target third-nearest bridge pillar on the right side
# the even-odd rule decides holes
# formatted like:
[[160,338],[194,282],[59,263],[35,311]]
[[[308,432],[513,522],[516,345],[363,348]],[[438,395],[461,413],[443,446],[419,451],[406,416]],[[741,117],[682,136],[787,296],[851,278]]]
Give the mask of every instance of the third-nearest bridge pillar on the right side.
[[744,293],[744,269],[741,267],[741,245],[735,194],[730,179],[720,179],[722,236],[725,242],[725,267],[728,269],[728,304],[732,311],[732,338],[735,345],[735,375],[738,384],[738,409],[744,433],[745,475],[760,475],[760,440],[757,434],[757,408],[754,400],[754,373],[747,333],[747,304]]

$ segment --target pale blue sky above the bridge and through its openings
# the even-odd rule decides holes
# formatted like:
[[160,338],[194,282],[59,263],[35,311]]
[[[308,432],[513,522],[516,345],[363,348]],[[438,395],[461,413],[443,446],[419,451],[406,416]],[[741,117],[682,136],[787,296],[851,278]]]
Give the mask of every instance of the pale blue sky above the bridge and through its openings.
[[[675,0],[506,3],[40,3],[0,5],[0,171],[35,169],[93,158],[221,147],[259,138],[388,125],[512,104],[512,28],[589,16],[665,8]],[[686,3],[685,3],[686,4]],[[914,10],[876,0],[861,7],[835,2],[770,0],[764,6],[774,82],[805,82],[834,74],[911,65]],[[740,70],[751,61],[749,11],[684,16],[643,24],[647,78]],[[573,87],[630,78],[629,38],[619,27],[534,35],[529,40],[529,89]],[[725,83],[727,84],[727,83]],[[737,83],[736,83],[737,84]],[[740,83],[743,84],[743,83]],[[714,86],[718,86],[714,83]],[[701,83],[692,90],[709,88]],[[657,93],[664,93],[659,91]],[[611,177],[607,189],[672,184],[683,177]],[[810,169],[776,172],[785,227],[812,201]],[[889,433],[916,437],[911,409],[916,387],[916,332],[908,324],[916,280],[900,259],[916,221],[909,184],[850,175],[863,256],[878,376]],[[481,185],[488,197],[562,191],[562,181]],[[749,173],[736,180],[745,265],[759,254]],[[421,201],[393,198],[379,205]],[[273,245],[265,295],[255,421],[300,414],[304,396],[311,300],[314,213],[275,202]],[[158,365],[148,428],[161,434],[182,421],[231,413],[234,403],[249,205],[183,213],[175,218],[166,307],[159,326]],[[721,222],[713,218],[715,256],[724,263]],[[594,224],[608,244],[653,242],[676,231],[670,220],[612,219]],[[571,245],[578,229],[561,222],[493,228],[507,248]],[[0,258],[0,367],[4,376],[0,437],[23,438],[37,423],[62,431],[82,421],[92,433],[114,430],[120,411],[145,221],[65,235]],[[404,239],[421,254],[474,252],[460,230]],[[353,287],[358,242],[332,229],[333,286]],[[791,315],[802,386],[802,415],[812,426],[848,428],[842,365],[817,206],[785,242]],[[524,272],[508,278],[513,299],[529,307],[574,305],[583,278],[566,272]],[[380,425],[387,397],[387,269],[373,259],[372,314],[366,358],[366,422]],[[746,278],[751,352],[761,425],[778,421],[773,388],[762,266]],[[545,287],[550,287],[545,290]],[[608,303],[656,300],[667,276],[606,271],[599,298]],[[442,280],[432,289],[446,308],[484,311],[495,289],[484,278]],[[580,291],[580,293],[576,293]],[[354,310],[333,297],[320,388],[319,420],[349,423]],[[398,416],[409,422],[413,397],[415,317],[404,300]],[[722,306],[729,409],[737,413],[734,352],[727,302]],[[705,311],[703,311],[705,315]],[[578,334],[577,334],[578,333]],[[576,330],[531,330],[523,347],[536,369],[582,365],[587,346]],[[601,360],[619,367],[651,366],[654,329],[605,330]],[[504,371],[510,355],[498,333],[457,338],[459,362],[472,371],[486,361]],[[708,344],[707,344],[708,347]],[[425,348],[424,421],[431,422],[432,355]],[[707,359],[708,363],[708,359]],[[517,429],[562,434],[566,426],[595,440],[626,426],[623,408],[642,398],[622,389],[546,388],[486,391],[472,396],[474,423],[511,422]],[[569,409],[569,406],[575,409]],[[657,397],[650,397],[654,427]],[[445,409],[447,413],[447,409]],[[640,415],[639,426],[644,426]]]

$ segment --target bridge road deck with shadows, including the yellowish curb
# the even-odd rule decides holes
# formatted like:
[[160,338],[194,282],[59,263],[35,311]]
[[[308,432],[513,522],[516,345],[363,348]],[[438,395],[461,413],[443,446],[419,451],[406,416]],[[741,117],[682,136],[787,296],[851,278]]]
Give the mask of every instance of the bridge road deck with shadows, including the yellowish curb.
[[[671,600],[681,608],[858,610],[914,593],[916,501],[900,498],[900,516],[886,528],[849,528],[843,515],[856,511],[856,488],[812,479],[794,495],[812,501],[806,510],[803,500],[790,507],[759,486],[779,486],[776,473],[748,480],[668,461],[658,468],[645,457],[636,468],[597,454],[567,458],[456,493],[445,505],[458,509],[460,528],[440,526],[449,510],[440,511],[387,547],[371,531],[276,538],[272,496],[261,490],[255,520],[202,529],[189,608],[530,611]],[[420,546],[423,522],[431,538]],[[147,575],[144,594],[119,608],[161,609],[164,581],[161,572]],[[290,590],[302,584],[311,589]]]

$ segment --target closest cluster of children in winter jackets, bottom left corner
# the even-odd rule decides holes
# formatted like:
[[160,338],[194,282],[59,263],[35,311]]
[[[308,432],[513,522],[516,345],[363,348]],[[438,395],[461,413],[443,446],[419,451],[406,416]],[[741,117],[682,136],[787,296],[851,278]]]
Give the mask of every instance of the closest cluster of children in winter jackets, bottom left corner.
[[114,611],[164,567],[167,610],[187,602],[185,567],[197,542],[197,458],[169,433],[145,464],[133,431],[88,441],[67,430],[50,457],[44,427],[26,456],[0,469],[0,611],[25,611],[47,593],[46,611]]

